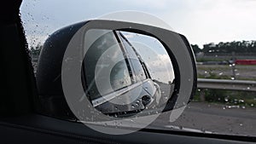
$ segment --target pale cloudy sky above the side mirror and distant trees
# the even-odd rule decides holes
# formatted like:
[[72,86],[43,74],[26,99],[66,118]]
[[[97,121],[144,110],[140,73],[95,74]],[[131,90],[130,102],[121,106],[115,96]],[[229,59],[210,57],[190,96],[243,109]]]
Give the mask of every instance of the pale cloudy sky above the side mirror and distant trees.
[[44,43],[63,26],[134,10],[166,21],[202,48],[205,43],[256,40],[255,8],[256,0],[24,0],[20,10],[30,45]]

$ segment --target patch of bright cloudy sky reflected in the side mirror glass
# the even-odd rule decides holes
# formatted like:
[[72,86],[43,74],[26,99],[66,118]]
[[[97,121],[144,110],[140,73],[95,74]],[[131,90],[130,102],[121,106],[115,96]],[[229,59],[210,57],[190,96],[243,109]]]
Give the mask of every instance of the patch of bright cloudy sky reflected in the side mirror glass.
[[137,50],[153,79],[168,84],[174,77],[172,61],[163,45],[154,37],[133,32],[121,32]]

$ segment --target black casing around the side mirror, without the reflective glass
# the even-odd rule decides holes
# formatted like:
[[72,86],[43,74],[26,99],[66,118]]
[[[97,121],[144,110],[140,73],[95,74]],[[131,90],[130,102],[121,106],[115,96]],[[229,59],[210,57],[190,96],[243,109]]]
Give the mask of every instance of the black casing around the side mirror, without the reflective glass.
[[[75,35],[78,33],[80,33],[79,36],[84,36],[84,34],[91,29],[135,32],[158,39],[160,43],[165,46],[172,60],[175,73],[173,93],[162,112],[186,106],[192,99],[195,94],[197,80],[195,56],[186,37],[155,26],[113,20],[89,20],[67,26],[55,32],[44,43],[44,48],[42,49],[38,61],[37,83],[39,95],[42,100],[44,100],[44,104],[46,104],[44,109],[50,115],[56,116],[59,115],[58,113],[61,113],[60,116],[57,117],[63,117],[62,115],[64,115],[68,118],[70,114],[67,113],[76,111],[73,109],[73,106],[67,106],[68,100],[65,99],[64,96],[66,88],[65,84],[63,85],[63,79],[61,81],[61,78],[69,77],[68,71],[74,69],[73,65],[71,66],[73,63],[66,65],[63,61],[67,58],[65,53],[67,53],[67,47],[73,37],[76,37]],[[84,37],[77,37],[77,39],[79,39],[78,43],[83,43],[83,38]],[[79,54],[78,51],[75,52],[77,49],[78,48],[73,49],[73,55],[68,55],[69,58],[73,59],[73,62],[76,61],[74,60],[76,59],[74,55]],[[73,68],[64,69],[64,71],[62,69],[61,72],[63,65],[70,65]],[[77,101],[79,99],[79,97],[76,97],[71,101]],[[63,106],[61,106],[60,103],[63,106],[65,105],[65,110],[63,110]],[[70,112],[69,108],[71,108],[72,112]]]

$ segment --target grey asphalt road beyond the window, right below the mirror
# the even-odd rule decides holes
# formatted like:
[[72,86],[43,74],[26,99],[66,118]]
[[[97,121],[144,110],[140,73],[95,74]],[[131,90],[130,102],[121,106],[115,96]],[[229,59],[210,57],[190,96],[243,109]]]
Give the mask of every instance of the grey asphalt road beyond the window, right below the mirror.
[[162,113],[148,128],[256,136],[256,108],[253,107],[191,102],[175,122],[169,119],[170,112]]

